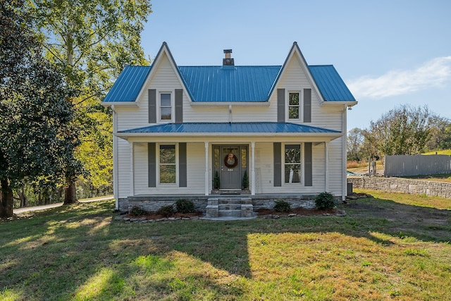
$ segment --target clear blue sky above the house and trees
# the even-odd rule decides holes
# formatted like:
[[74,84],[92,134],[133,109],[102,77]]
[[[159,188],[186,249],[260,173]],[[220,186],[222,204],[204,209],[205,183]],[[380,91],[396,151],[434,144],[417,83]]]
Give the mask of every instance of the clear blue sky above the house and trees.
[[282,65],[293,42],[309,65],[333,64],[359,104],[348,130],[402,104],[451,118],[449,0],[153,0],[142,32],[154,59],[166,41],[179,66]]

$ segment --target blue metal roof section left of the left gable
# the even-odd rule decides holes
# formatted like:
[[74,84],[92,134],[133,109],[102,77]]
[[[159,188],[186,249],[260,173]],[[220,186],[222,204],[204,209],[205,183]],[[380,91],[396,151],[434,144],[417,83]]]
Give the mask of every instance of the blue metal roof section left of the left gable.
[[135,102],[152,66],[125,66],[104,102]]

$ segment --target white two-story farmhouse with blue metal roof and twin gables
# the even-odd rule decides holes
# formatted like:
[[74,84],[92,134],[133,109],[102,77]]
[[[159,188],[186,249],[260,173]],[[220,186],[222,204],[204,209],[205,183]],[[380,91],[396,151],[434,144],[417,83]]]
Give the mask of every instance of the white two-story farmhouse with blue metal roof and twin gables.
[[307,65],[296,42],[282,66],[235,66],[231,52],[222,66],[178,66],[163,42],[152,66],[124,68],[103,102],[116,209],[345,198],[346,112],[357,102],[335,68]]

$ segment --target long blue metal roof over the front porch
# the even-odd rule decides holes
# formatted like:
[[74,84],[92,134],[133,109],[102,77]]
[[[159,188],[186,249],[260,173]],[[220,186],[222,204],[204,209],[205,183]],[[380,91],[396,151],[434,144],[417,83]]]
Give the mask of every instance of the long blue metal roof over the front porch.
[[338,130],[317,128],[315,126],[277,123],[164,123],[143,128],[121,130],[119,133],[341,133]]

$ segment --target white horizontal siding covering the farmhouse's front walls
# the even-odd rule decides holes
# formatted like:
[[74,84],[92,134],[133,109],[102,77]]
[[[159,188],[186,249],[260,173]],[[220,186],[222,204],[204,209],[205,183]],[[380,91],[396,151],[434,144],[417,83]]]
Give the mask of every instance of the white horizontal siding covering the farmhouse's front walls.
[[[148,120],[148,90],[156,89],[159,92],[175,92],[175,89],[184,89],[178,79],[178,74],[173,69],[171,62],[163,52],[159,60],[159,66],[152,70],[153,77],[148,80],[138,99],[138,106],[116,106],[118,114],[117,130],[126,130],[130,128],[139,128],[149,125]],[[311,89],[311,123],[307,125],[329,128],[333,130],[342,130],[342,109],[344,106],[321,106],[320,96],[314,89],[313,83],[306,75],[302,61],[295,55],[285,66],[277,87],[275,88],[268,106],[240,106],[233,105],[230,116],[228,106],[192,106],[189,102],[188,94],[183,94],[183,121],[184,122],[258,122],[258,121],[277,121],[277,89],[285,89],[286,99],[289,91],[300,91]],[[175,95],[173,94],[173,97]],[[158,97],[157,97],[158,102]],[[287,100],[288,102],[288,100]],[[288,108],[288,105],[285,106]],[[173,111],[174,115],[174,111]],[[301,118],[296,123],[302,123],[302,104]],[[288,121],[288,117],[286,119]],[[290,120],[290,122],[295,122]],[[209,138],[206,138],[208,140]],[[220,144],[221,139],[211,138],[211,143]],[[255,145],[255,168],[256,168],[256,192],[257,193],[283,193],[297,192],[299,194],[314,195],[326,190],[326,156],[325,144],[313,143],[313,186],[305,187],[303,184],[282,183],[281,187],[273,187],[273,143],[258,142]],[[219,140],[219,141],[218,141]],[[250,141],[251,139],[249,139]],[[233,144],[242,140],[233,140],[228,138],[227,142]],[[249,142],[245,141],[245,143]],[[260,140],[261,141],[261,140]],[[290,143],[293,143],[290,140]],[[302,140],[305,141],[305,140]],[[157,142],[158,141],[154,141]],[[178,141],[174,141],[178,142]],[[343,156],[342,153],[343,138],[335,139],[328,145],[329,166],[328,183],[329,192],[335,195],[342,195]],[[249,142],[250,143],[250,142]],[[209,148],[209,164],[211,164],[211,147]],[[135,195],[147,194],[198,194],[205,192],[205,149],[203,142],[187,143],[187,188],[179,188],[178,185],[159,185],[157,180],[156,188],[148,187],[147,175],[147,142],[137,142],[134,145],[134,176],[133,190]],[[249,145],[250,156],[250,145]],[[119,198],[128,197],[132,194],[130,191],[130,145],[125,140],[118,140],[118,192]],[[250,160],[250,157],[249,157]],[[157,161],[158,172],[158,161]],[[249,176],[250,176],[249,170]],[[282,181],[283,182],[283,181]],[[211,166],[209,166],[209,185],[211,185]],[[210,188],[209,188],[210,189]]]

